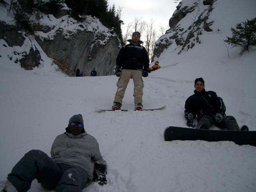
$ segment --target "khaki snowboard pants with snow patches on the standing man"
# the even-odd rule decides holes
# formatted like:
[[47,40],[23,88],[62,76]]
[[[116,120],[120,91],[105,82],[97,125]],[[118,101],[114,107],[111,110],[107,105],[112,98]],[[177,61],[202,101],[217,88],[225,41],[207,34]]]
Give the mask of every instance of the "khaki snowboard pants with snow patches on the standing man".
[[124,93],[130,79],[132,79],[134,83],[134,90],[133,90],[134,103],[142,103],[143,88],[144,88],[144,83],[142,80],[142,71],[132,70],[132,69],[122,69],[122,75],[118,79],[118,82],[116,83],[117,90],[116,90],[116,96],[114,98],[114,102],[118,102],[122,104]]

